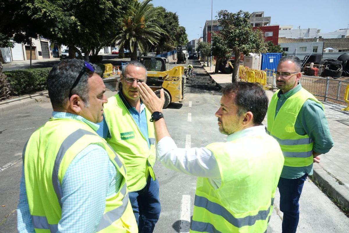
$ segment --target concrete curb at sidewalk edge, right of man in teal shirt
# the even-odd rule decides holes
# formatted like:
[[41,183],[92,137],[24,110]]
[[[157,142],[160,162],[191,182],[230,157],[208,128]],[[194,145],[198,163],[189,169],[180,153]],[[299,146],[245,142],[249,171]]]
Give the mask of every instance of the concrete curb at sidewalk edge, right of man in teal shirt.
[[349,209],[349,189],[345,185],[341,185],[331,173],[327,172],[320,165],[315,165],[313,171],[314,179],[324,187],[327,194],[338,200],[340,205]]

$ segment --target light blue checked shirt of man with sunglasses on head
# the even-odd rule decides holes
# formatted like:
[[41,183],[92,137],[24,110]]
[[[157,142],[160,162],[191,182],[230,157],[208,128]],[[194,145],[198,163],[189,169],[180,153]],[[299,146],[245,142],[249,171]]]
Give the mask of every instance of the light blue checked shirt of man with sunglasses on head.
[[[53,118],[82,121],[93,130],[99,126],[79,115],[53,112]],[[105,200],[115,195],[122,181],[106,151],[98,144],[83,149],[68,166],[62,180],[62,218],[58,233],[96,232],[105,209]],[[17,207],[18,232],[35,232],[29,212],[25,190],[24,170],[20,184],[20,201]]]

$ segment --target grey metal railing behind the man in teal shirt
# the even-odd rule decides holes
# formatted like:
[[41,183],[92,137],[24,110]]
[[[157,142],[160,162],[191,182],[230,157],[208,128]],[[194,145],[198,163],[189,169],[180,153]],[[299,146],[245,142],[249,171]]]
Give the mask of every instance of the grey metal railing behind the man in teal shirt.
[[[267,85],[271,90],[276,89],[276,79],[273,76],[275,70],[265,69],[265,72],[267,73]],[[347,80],[302,75],[299,82],[305,90],[312,93],[319,100],[334,100],[346,103],[345,93],[346,87],[349,84],[349,81]]]

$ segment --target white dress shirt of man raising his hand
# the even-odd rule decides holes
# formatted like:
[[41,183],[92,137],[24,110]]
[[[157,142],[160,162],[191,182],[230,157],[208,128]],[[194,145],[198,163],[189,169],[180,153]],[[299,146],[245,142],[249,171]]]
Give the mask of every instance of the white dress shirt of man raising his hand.
[[[254,126],[228,135],[227,142],[240,137],[264,134],[266,134],[265,126]],[[216,189],[221,186],[222,180],[217,160],[205,147],[178,148],[171,137],[163,137],[156,145],[156,160],[171,170],[206,177]]]

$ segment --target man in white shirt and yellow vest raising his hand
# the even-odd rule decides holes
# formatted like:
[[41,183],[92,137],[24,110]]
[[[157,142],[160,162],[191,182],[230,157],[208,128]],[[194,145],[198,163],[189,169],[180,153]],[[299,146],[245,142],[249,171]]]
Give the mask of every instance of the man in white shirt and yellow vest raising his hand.
[[157,98],[145,83],[138,90],[153,113],[157,159],[172,170],[198,176],[190,232],[265,232],[284,158],[261,125],[268,106],[261,85],[227,85],[215,114],[227,142],[191,149],[177,148],[170,137],[162,115],[163,91]]

